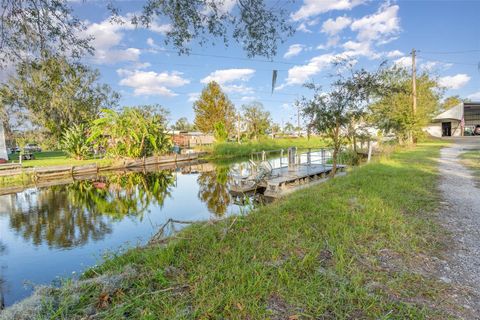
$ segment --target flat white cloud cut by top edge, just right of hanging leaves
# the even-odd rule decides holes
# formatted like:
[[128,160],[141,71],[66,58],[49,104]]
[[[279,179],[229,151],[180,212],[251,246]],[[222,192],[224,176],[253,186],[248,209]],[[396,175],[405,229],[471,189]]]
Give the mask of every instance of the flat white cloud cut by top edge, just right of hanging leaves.
[[291,15],[294,21],[306,20],[332,10],[351,10],[365,0],[304,0],[297,12]]

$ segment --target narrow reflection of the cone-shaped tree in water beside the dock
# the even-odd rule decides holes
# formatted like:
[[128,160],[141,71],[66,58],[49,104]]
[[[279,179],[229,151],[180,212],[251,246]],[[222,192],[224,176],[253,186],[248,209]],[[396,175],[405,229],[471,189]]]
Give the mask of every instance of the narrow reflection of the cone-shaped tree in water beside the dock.
[[223,216],[231,203],[228,192],[228,166],[217,166],[215,170],[201,172],[197,178],[199,185],[198,197],[206,203],[208,210]]

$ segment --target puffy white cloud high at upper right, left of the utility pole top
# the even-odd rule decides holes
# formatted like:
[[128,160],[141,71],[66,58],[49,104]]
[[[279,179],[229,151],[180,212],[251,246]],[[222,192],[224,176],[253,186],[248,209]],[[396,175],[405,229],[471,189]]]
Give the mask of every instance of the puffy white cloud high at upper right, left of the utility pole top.
[[357,31],[359,41],[387,41],[400,32],[398,5],[381,5],[376,13],[352,22],[350,28]]

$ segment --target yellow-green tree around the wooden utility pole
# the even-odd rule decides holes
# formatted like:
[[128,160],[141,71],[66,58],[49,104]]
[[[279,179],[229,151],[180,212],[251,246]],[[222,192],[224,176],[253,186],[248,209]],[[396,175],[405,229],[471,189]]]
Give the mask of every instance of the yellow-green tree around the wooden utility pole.
[[384,133],[394,133],[403,143],[415,140],[438,112],[441,90],[427,73],[417,77],[417,110],[412,110],[412,82],[403,68],[382,72],[382,78],[394,91],[379,97],[369,107],[369,120]]

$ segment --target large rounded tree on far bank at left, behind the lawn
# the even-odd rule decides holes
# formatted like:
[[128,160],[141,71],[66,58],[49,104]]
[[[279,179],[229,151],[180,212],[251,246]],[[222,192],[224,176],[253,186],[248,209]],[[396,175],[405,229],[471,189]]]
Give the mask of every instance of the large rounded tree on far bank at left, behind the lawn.
[[98,71],[65,58],[22,63],[17,74],[1,85],[0,106],[4,115],[14,112],[59,141],[72,124],[88,122],[101,109],[117,105],[118,94],[99,84],[99,77]]

